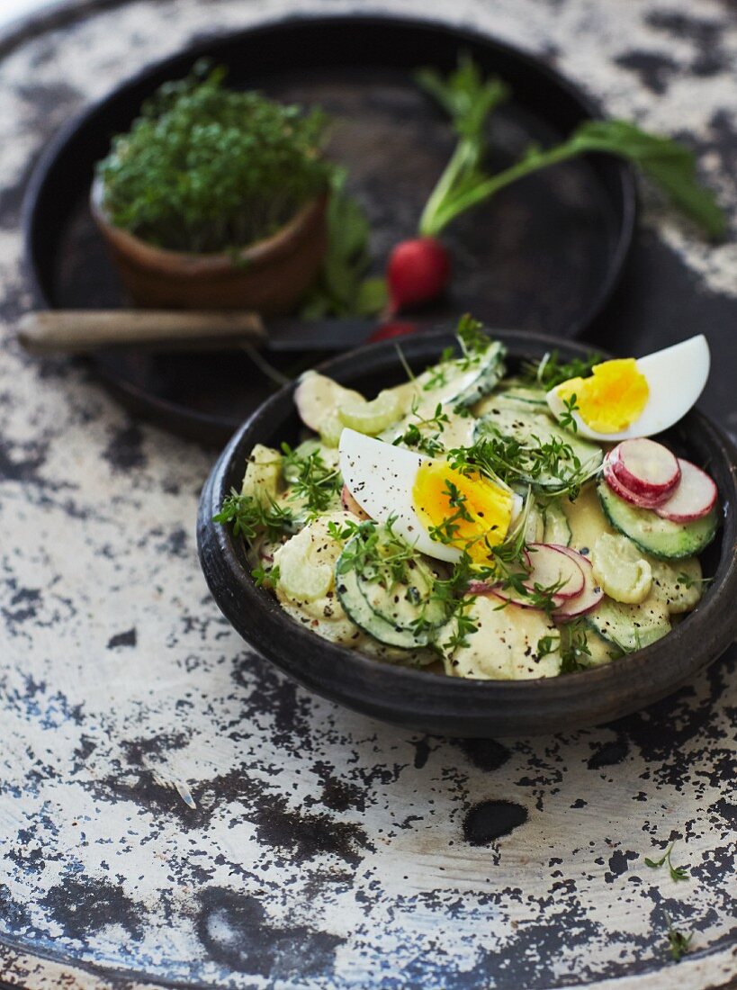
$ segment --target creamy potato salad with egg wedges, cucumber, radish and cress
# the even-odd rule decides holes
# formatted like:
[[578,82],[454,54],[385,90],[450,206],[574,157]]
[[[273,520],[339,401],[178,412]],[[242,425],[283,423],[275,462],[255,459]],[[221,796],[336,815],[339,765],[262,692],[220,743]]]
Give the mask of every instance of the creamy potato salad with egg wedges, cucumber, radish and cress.
[[304,439],[255,446],[216,516],[256,582],[330,643],[451,677],[554,677],[667,636],[703,593],[717,490],[650,437],[697,399],[704,339],[512,371],[470,317],[457,340],[370,399],[303,375]]

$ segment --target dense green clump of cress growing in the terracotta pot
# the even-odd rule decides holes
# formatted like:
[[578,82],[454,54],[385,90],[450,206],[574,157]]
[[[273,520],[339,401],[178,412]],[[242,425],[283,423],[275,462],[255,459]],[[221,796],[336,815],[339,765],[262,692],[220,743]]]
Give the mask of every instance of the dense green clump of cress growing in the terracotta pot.
[[327,119],[224,85],[198,61],[143,104],[97,166],[116,227],[157,247],[235,251],[268,237],[327,189]]

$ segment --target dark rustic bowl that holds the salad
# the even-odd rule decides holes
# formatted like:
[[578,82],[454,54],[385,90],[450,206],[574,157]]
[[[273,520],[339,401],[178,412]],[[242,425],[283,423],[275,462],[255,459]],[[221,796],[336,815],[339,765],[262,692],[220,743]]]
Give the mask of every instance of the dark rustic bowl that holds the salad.
[[[509,349],[509,365],[539,358],[556,347],[564,357],[587,348],[568,341],[496,333]],[[410,363],[421,369],[435,360],[450,334],[403,341]],[[322,371],[372,394],[405,380],[392,342],[361,347],[325,362]],[[293,622],[250,577],[242,542],[212,522],[257,444],[296,441],[300,428],[293,386],[265,402],[238,430],[213,468],[200,502],[198,544],[210,590],[243,639],[300,684],[367,715],[437,735],[489,737],[529,735],[598,725],[676,691],[711,663],[737,635],[737,452],[702,414],[691,411],[669,443],[706,464],[719,488],[723,526],[702,563],[713,580],[698,607],[659,643],[608,665],[556,678],[526,681],[461,680],[380,663],[327,643]]]

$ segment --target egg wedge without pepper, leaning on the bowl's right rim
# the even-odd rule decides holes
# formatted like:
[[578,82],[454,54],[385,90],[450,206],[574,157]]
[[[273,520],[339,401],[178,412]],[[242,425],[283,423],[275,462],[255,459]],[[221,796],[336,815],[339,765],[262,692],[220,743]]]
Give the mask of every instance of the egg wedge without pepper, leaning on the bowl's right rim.
[[685,416],[709,373],[709,347],[702,335],[646,357],[596,364],[590,378],[569,378],[547,394],[559,419],[575,396],[573,418],[581,437],[619,441],[651,437]]

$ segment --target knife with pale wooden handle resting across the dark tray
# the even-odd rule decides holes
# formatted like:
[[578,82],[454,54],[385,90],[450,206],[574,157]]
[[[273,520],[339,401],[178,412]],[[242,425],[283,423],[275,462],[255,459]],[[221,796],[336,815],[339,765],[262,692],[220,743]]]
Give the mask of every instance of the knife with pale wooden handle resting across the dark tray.
[[44,310],[23,316],[17,336],[35,354],[133,346],[148,350],[243,345],[273,351],[347,350],[365,344],[378,326],[367,319],[264,320],[257,313],[226,311]]

